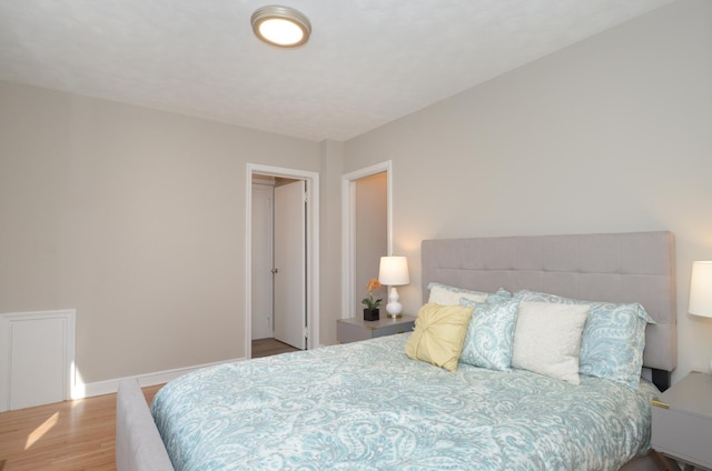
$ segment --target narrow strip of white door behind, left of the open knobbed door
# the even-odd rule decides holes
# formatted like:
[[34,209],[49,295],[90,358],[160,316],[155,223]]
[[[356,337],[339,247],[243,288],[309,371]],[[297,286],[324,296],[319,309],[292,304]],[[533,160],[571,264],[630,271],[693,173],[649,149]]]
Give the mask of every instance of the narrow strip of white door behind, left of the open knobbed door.
[[274,335],[271,323],[273,192],[271,184],[253,184],[253,339],[268,339]]

